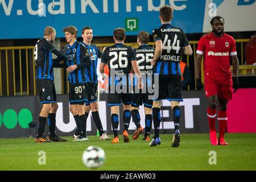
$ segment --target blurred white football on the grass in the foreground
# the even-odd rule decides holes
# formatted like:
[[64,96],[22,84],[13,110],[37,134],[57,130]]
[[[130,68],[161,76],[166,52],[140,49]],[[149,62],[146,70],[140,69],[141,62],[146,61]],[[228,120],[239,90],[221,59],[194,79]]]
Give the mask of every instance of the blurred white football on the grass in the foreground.
[[89,146],[82,154],[82,163],[89,168],[98,168],[105,162],[105,152],[101,147]]

